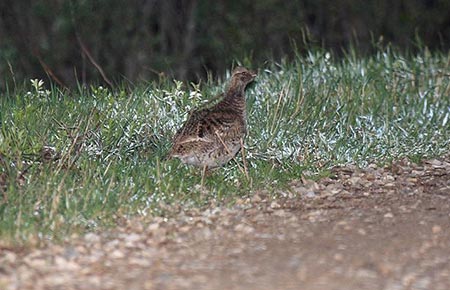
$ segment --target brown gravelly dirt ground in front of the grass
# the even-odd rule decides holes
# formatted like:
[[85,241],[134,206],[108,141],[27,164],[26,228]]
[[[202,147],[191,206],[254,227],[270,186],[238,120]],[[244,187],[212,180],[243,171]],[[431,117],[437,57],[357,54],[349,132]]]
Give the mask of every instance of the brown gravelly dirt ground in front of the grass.
[[3,248],[0,289],[450,289],[450,156]]

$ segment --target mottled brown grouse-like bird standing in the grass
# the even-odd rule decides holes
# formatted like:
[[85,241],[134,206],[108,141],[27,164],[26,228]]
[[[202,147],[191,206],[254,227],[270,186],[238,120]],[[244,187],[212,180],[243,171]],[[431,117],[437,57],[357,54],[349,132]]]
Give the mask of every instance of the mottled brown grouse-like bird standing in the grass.
[[169,156],[205,169],[230,161],[247,132],[244,90],[255,77],[256,73],[246,68],[234,69],[223,99],[211,108],[191,113],[175,134]]

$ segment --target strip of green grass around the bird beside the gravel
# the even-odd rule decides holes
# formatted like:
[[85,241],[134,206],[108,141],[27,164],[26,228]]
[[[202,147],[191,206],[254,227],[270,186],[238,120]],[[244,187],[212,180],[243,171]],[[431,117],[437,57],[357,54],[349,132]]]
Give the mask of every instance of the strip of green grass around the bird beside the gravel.
[[[0,240],[58,240],[168,205],[276,192],[337,164],[446,154],[449,72],[449,54],[389,48],[343,59],[311,51],[259,68],[247,90],[250,180],[231,162],[207,178],[206,191],[199,170],[164,156],[188,112],[222,91],[222,82],[164,79],[67,92],[33,80],[0,98]],[[55,149],[50,158],[44,146]]]

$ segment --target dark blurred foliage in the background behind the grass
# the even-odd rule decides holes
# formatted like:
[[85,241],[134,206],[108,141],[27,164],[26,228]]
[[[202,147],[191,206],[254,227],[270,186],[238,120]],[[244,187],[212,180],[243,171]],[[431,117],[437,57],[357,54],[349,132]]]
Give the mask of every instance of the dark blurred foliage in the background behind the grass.
[[2,0],[0,89],[169,75],[196,81],[311,47],[450,48],[448,0]]

